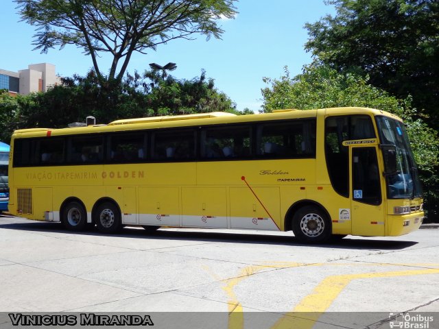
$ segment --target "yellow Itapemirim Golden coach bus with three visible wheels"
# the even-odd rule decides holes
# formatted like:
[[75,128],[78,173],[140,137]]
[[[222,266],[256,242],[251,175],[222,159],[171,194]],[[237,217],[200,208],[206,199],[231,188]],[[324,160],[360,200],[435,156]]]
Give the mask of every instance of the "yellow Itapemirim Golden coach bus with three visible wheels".
[[74,231],[292,230],[322,243],[407,234],[424,216],[403,122],[369,108],[16,130],[10,154],[10,212]]

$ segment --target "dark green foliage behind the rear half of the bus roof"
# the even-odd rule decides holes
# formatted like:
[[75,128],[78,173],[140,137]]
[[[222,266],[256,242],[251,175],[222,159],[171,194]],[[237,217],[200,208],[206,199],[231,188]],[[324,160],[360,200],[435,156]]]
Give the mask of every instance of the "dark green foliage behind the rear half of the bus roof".
[[224,93],[215,88],[213,79],[203,71],[192,80],[163,79],[156,71],[127,75],[121,84],[101,86],[94,71],[85,77],[64,78],[63,85],[47,93],[12,97],[0,93],[0,138],[8,143],[12,132],[29,127],[66,127],[84,122],[88,115],[97,123],[117,119],[153,117],[198,112],[226,111],[244,114]]

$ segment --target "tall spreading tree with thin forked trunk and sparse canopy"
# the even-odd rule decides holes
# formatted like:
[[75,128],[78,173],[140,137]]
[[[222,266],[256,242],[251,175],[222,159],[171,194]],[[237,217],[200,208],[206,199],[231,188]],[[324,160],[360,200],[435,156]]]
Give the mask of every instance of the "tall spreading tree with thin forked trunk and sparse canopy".
[[[33,45],[76,45],[90,55],[99,80],[99,53],[110,53],[108,80],[121,82],[134,52],[145,53],[192,34],[220,38],[220,17],[233,18],[236,0],[15,0],[23,21],[37,27]],[[121,61],[119,71],[118,64]]]

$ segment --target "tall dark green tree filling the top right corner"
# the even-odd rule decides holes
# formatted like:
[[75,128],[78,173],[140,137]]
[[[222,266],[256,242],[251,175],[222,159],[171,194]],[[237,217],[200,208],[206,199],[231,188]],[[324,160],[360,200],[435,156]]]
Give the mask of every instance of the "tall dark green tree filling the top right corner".
[[439,1],[331,0],[337,14],[307,24],[307,51],[399,98],[412,95],[439,127]]

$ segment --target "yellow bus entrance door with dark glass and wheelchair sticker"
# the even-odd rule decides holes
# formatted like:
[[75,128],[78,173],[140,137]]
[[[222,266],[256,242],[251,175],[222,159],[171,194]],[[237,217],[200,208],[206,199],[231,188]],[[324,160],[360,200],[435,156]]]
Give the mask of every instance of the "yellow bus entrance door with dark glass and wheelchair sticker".
[[352,234],[383,236],[385,207],[381,197],[377,145],[350,146]]

